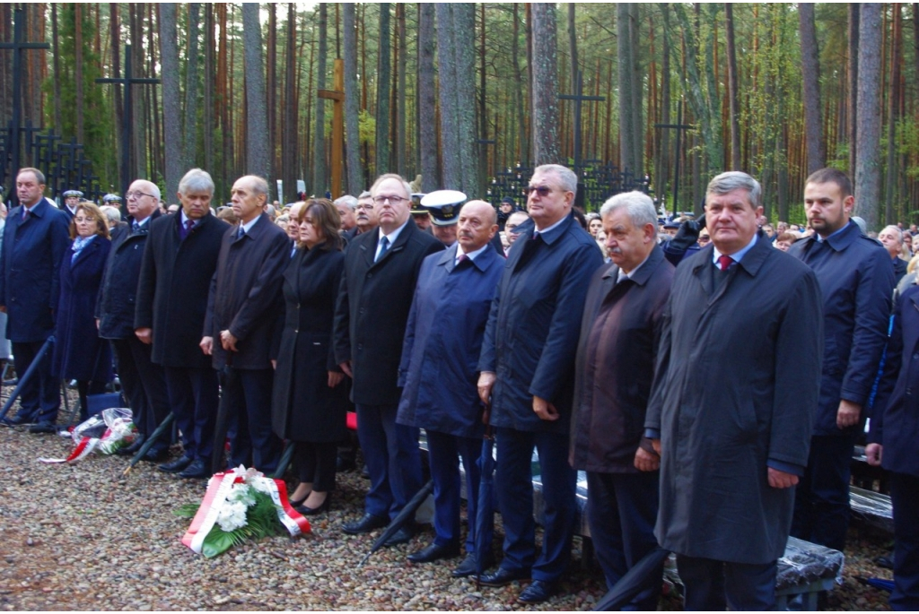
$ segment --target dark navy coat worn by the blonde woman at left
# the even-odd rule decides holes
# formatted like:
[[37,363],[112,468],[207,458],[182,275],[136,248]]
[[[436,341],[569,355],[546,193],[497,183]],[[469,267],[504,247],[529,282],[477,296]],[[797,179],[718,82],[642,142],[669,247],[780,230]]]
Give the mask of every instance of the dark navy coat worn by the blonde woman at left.
[[51,373],[59,379],[108,382],[111,345],[99,338],[94,319],[96,296],[111,241],[96,236],[74,258],[67,250],[61,262],[61,299]]

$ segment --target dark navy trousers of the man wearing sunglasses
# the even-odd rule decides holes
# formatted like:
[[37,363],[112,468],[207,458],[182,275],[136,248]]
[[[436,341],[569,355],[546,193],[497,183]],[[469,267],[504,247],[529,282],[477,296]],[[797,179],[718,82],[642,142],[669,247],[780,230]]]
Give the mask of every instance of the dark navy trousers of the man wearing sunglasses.
[[[532,569],[534,580],[557,580],[571,556],[577,473],[568,464],[568,436],[497,429],[494,490],[505,524],[506,571]],[[533,519],[533,446],[539,452],[545,517],[542,552],[536,557]],[[534,562],[535,559],[535,562]]]

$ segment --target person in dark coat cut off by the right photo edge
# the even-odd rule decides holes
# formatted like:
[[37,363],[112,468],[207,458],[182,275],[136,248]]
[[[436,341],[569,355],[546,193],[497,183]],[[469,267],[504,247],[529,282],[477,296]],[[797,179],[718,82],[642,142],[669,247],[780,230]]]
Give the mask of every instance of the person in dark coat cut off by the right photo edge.
[[888,471],[893,504],[891,608],[919,610],[919,286],[893,308],[884,376],[871,412],[868,463]]

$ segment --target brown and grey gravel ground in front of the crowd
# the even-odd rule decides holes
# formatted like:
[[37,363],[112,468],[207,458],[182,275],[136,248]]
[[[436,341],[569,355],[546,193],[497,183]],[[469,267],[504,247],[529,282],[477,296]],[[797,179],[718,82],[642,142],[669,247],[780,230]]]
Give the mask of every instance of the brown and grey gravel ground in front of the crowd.
[[[433,539],[429,526],[357,567],[379,535],[340,530],[362,510],[368,483],[358,472],[339,475],[332,510],[313,521],[312,534],[248,542],[207,560],[182,545],[189,520],[171,513],[199,503],[205,481],[180,480],[150,463],[124,476],[127,460],[120,456],[38,462],[66,456],[71,443],[0,428],[0,609],[573,610],[593,608],[605,592],[596,565],[581,565],[579,539],[562,594],[538,607],[516,604],[517,583],[477,591],[474,581],[452,578],[459,559],[407,562],[407,553]],[[497,531],[500,540],[500,525]],[[857,576],[891,577],[873,563],[889,553],[890,538],[852,530],[849,541],[844,584],[830,593],[827,607],[888,609],[886,593]],[[663,597],[661,608],[680,603]]]

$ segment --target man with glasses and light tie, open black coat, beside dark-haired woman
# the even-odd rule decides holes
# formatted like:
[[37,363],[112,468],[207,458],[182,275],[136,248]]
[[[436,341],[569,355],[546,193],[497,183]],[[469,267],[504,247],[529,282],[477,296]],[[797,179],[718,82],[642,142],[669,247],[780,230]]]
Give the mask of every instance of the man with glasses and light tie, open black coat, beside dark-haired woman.
[[[364,515],[346,523],[347,533],[387,525],[422,486],[418,429],[396,423],[399,364],[421,262],[443,250],[409,219],[411,189],[402,177],[381,175],[370,192],[380,230],[348,244],[335,307],[335,362],[354,379],[357,438],[370,474]],[[409,541],[413,532],[408,523],[387,544]]]

